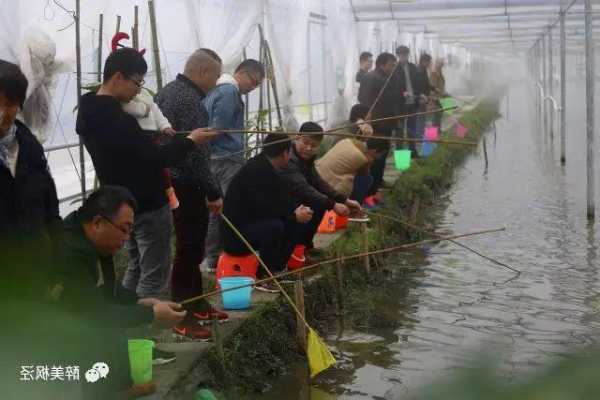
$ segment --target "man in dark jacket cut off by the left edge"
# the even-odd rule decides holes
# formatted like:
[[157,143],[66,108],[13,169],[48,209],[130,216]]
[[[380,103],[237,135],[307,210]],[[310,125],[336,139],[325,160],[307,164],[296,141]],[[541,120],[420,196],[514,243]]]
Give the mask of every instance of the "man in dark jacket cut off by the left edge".
[[[0,238],[49,238],[60,222],[54,180],[44,150],[16,119],[27,93],[27,78],[15,64],[0,60]],[[33,236],[33,237],[32,237]]]

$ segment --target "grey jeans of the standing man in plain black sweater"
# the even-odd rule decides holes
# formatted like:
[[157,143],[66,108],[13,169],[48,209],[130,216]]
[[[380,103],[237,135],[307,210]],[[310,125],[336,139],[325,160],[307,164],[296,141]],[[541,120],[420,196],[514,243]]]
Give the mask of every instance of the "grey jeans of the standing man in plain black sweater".
[[129,264],[123,287],[139,297],[164,293],[171,271],[173,215],[169,205],[135,216],[131,238],[125,244]]

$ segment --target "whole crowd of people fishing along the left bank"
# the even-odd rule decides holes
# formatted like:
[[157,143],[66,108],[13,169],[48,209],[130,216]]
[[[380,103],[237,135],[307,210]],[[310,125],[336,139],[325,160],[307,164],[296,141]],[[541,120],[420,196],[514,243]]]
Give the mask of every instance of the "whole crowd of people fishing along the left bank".
[[[181,302],[202,294],[203,261],[214,272],[223,252],[250,254],[222,214],[277,273],[295,246],[316,251],[313,238],[326,211],[364,221],[363,207],[381,201],[390,141],[370,136],[407,129],[415,138],[426,122],[369,121],[435,108],[445,95],[441,61],[430,71],[427,54],[418,66],[409,62],[407,47],[396,56],[380,54],[371,70],[373,56],[361,54],[359,102],[346,132],[352,137],[336,140],[317,159],[324,129],[309,121],[294,137],[268,135],[262,151],[247,160],[242,96],[265,78],[259,61],[247,59],[229,75],[218,54],[199,49],[152,98],[143,88],[143,54],[115,50],[99,88],[81,97],[76,121],[100,187],[64,219],[43,148],[17,119],[27,79],[17,65],[0,60],[0,293],[12,304],[3,318],[25,327],[31,321],[19,310],[50,307],[41,321],[52,315],[78,321],[79,328],[34,331],[47,334],[48,342],[40,343],[49,347],[56,332],[73,343],[91,332],[80,350],[111,365],[110,382],[94,385],[93,393],[131,385],[127,327],[153,323],[190,340],[210,339],[204,325],[227,321],[227,313],[207,301]],[[439,125],[440,117],[430,123]],[[411,150],[416,156],[414,143]],[[113,257],[122,248],[128,265],[117,279]],[[278,291],[270,283],[257,289]],[[27,329],[23,337],[30,334]]]

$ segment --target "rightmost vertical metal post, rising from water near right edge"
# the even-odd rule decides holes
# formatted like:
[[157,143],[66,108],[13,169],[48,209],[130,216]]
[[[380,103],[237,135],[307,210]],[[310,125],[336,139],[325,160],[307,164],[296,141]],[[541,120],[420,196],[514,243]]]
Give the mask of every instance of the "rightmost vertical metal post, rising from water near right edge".
[[585,0],[585,80],[587,122],[587,217],[595,219],[594,207],[594,31],[592,1]]

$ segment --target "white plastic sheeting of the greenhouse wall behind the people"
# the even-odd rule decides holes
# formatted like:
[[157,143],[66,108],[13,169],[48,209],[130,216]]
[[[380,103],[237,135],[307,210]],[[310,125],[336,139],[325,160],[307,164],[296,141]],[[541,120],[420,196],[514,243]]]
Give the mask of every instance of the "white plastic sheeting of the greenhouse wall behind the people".
[[[148,49],[146,59],[150,69],[146,81],[150,88],[155,88],[148,3],[140,0],[81,2],[84,85],[98,79],[99,15],[104,16],[102,53],[106,58],[110,39],[116,32],[117,15],[121,16],[120,30],[131,33],[135,5],[139,6],[139,45]],[[464,48],[441,44],[423,32],[408,32],[393,21],[357,22],[352,2],[348,0],[156,0],[155,8],[163,82],[181,72],[188,55],[199,47],[215,50],[228,72],[244,55],[258,58],[260,24],[272,51],[279,101],[287,125],[312,119],[327,127],[346,119],[356,101],[354,77],[361,51],[368,50],[376,56],[405,44],[415,56],[421,51],[429,51],[434,57],[452,55],[460,63],[450,67],[450,87],[456,87],[460,77],[468,75],[472,61]],[[56,59],[65,60],[71,71],[60,75],[56,90],[51,92],[49,128],[41,135],[42,139],[47,137],[46,146],[77,141],[74,10],[74,0],[0,0],[3,38],[0,58],[26,65],[28,55],[22,51],[23,37],[35,28],[55,42]],[[50,84],[44,87],[52,89]],[[258,108],[258,92],[250,95],[251,111]],[[263,103],[263,107],[267,104]],[[49,158],[60,195],[77,193],[77,151],[61,150],[51,153]],[[88,169],[90,187],[93,173],[89,163]]]

